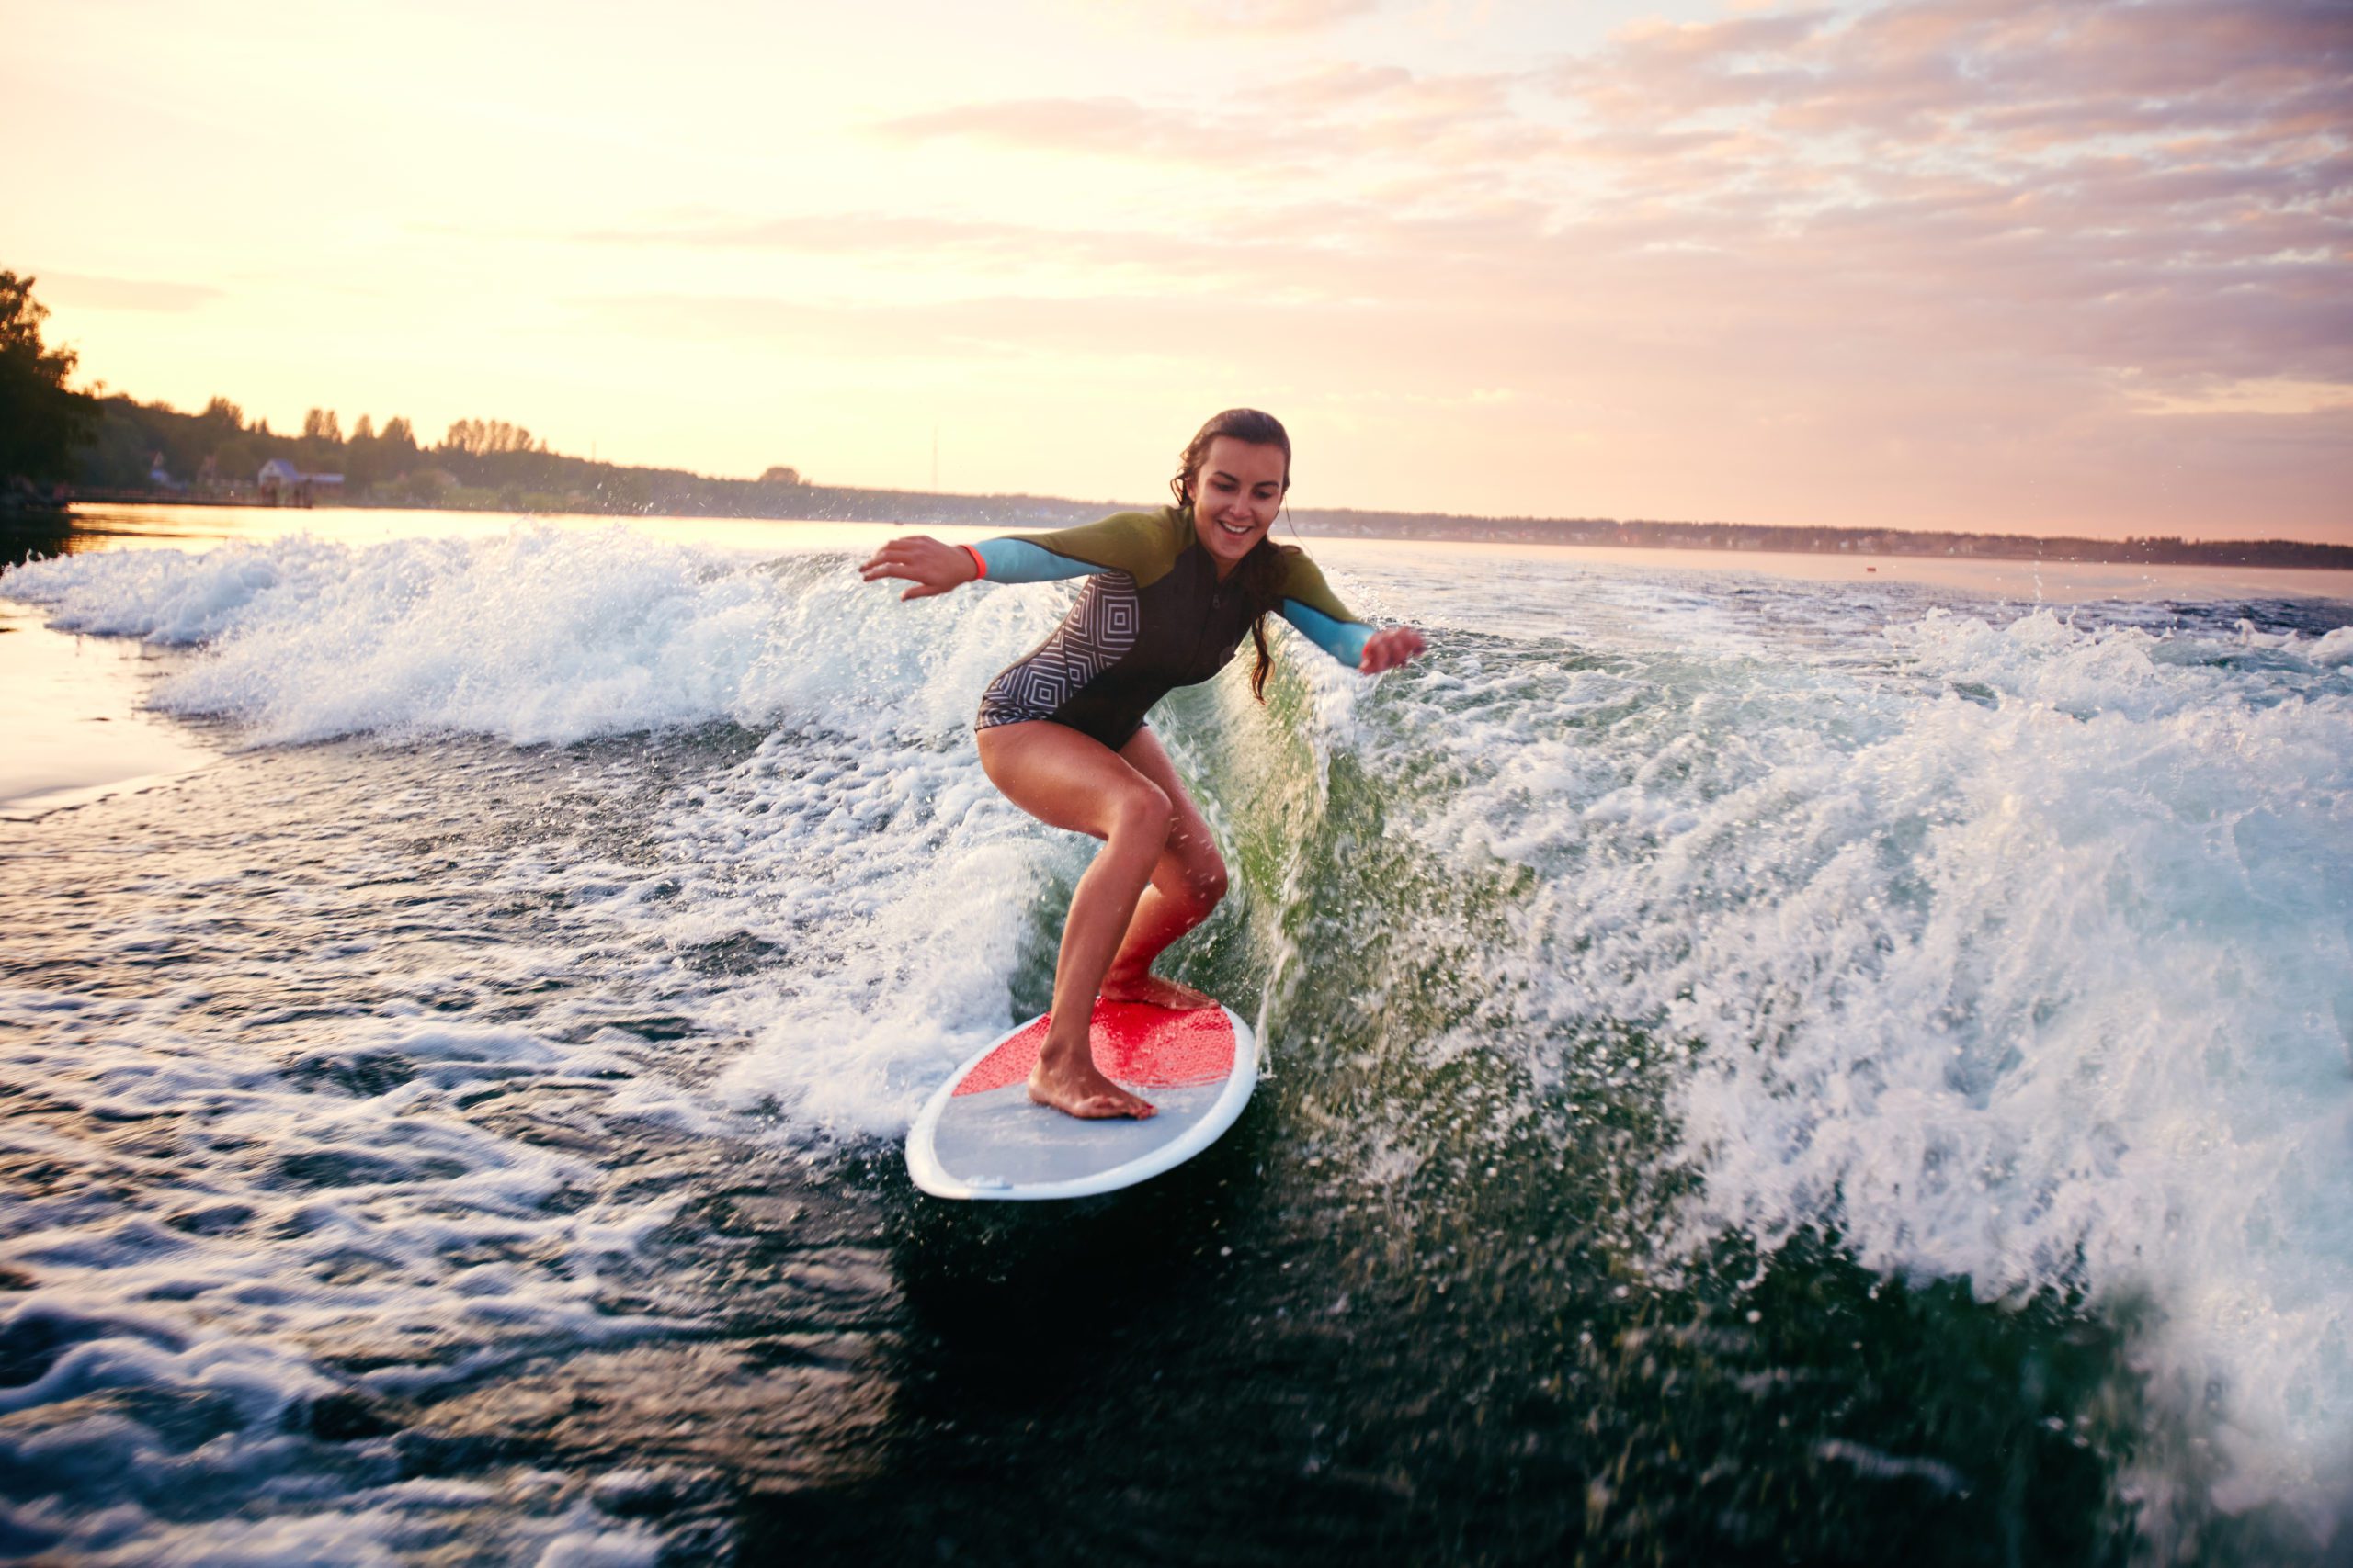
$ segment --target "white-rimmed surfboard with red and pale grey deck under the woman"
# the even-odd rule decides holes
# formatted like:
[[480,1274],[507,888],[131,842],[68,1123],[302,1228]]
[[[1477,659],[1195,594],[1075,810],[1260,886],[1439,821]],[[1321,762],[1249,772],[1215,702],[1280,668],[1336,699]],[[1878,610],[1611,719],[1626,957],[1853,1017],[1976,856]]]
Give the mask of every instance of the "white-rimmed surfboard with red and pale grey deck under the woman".
[[932,1093],[906,1135],[906,1171],[918,1187],[944,1199],[1118,1192],[1217,1143],[1259,1084],[1259,1041],[1233,1009],[1174,1013],[1099,999],[1089,1025],[1094,1065],[1158,1114],[1082,1121],[1028,1098],[1045,1025],[1031,1018]]

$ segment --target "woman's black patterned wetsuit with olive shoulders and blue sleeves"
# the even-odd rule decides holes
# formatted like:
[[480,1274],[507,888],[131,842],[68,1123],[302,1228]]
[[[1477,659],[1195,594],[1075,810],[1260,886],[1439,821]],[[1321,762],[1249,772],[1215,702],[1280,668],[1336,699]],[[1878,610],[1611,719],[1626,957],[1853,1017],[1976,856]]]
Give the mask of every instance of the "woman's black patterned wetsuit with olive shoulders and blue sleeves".
[[[1005,668],[981,696],[979,726],[1052,719],[1120,750],[1172,686],[1226,668],[1249,635],[1249,607],[1193,534],[1193,510],[1120,512],[1080,529],[1007,534],[965,545],[984,578],[1045,583],[1085,576],[1054,635]],[[1351,670],[1372,628],[1348,614],[1306,555],[1285,552],[1275,611]]]

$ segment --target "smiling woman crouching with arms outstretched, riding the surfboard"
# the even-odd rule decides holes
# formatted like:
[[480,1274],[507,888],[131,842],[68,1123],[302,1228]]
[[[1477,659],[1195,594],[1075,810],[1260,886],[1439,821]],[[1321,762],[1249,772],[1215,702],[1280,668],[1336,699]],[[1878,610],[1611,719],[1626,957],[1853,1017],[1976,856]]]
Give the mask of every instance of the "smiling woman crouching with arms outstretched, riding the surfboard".
[[1249,632],[1266,701],[1266,616],[1365,675],[1424,649],[1409,625],[1374,630],[1292,545],[1266,538],[1292,487],[1292,437],[1273,414],[1226,409],[1184,449],[1176,505],[1080,529],[1009,534],[981,545],[894,538],[861,576],[906,578],[901,599],[976,578],[1040,583],[1087,576],[1064,623],[981,696],[981,769],[1040,823],[1104,839],[1078,879],[1054,966],[1054,1016],[1031,1098],[1073,1117],[1148,1117],[1153,1107],[1096,1072],[1094,997],[1169,1009],[1214,1006],[1153,973],[1153,959],[1226,896],[1209,823],[1176,780],[1144,712],[1172,686],[1217,675]]

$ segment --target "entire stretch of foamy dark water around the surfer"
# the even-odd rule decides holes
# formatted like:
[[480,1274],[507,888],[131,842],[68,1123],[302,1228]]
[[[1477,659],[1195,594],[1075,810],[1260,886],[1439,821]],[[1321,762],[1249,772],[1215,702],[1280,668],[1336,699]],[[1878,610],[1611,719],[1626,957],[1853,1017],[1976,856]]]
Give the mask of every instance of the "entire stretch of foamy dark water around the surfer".
[[0,1556],[2353,1542],[2344,574],[1320,541],[1431,656],[1153,719],[1268,1079],[1002,1213],[896,1135],[1049,992],[1059,585],[301,524],[0,576]]

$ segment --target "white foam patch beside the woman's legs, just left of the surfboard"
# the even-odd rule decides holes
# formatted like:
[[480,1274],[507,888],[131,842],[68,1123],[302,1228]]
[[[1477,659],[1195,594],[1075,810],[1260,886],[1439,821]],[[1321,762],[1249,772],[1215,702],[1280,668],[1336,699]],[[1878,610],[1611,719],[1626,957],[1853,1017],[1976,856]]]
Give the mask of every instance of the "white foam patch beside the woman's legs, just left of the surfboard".
[[661,827],[666,900],[616,900],[640,938],[779,950],[706,997],[748,1048],[718,1081],[800,1128],[899,1133],[1009,1025],[1007,978],[1056,856],[962,748],[774,736]]

